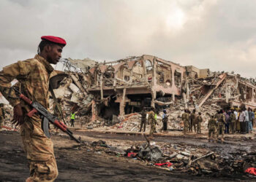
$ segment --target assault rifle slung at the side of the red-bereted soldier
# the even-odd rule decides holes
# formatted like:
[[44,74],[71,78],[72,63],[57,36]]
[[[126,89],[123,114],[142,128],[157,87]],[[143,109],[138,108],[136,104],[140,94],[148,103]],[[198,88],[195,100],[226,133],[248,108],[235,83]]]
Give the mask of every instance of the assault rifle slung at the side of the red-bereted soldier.
[[77,143],[80,143],[80,141],[73,136],[73,133],[67,128],[65,124],[59,121],[59,119],[56,116],[53,116],[53,114],[50,114],[50,112],[42,106],[37,101],[32,102],[29,98],[27,98],[25,95],[19,92],[15,87],[12,87],[15,92],[18,93],[18,97],[22,100],[24,100],[25,103],[28,103],[29,106],[31,106],[32,110],[29,111],[27,116],[31,117],[34,114],[39,114],[42,118],[42,130],[45,132],[45,135],[50,138],[49,133],[49,122],[51,124],[54,124],[56,127],[58,127],[61,131],[66,132],[70,138],[72,138]]

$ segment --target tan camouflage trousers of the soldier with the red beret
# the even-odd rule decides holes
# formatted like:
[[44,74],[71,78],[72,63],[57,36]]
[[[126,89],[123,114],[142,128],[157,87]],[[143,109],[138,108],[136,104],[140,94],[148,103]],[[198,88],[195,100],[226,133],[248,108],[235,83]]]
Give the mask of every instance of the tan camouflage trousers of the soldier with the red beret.
[[20,127],[23,148],[29,160],[30,177],[28,181],[54,181],[59,172],[53,154],[53,142],[45,136],[41,119],[25,117]]

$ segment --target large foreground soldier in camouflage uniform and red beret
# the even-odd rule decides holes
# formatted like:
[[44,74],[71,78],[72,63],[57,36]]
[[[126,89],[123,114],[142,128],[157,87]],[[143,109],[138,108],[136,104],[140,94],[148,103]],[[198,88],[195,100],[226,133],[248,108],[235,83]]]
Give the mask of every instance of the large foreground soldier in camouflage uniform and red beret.
[[58,63],[66,41],[55,36],[42,36],[41,39],[34,58],[18,61],[0,71],[0,91],[14,107],[14,124],[20,125],[23,148],[29,161],[30,177],[26,181],[54,181],[58,176],[53,142],[42,131],[40,116],[27,116],[30,106],[17,98],[11,89],[12,80],[18,79],[19,83],[15,85],[20,92],[49,108],[49,79],[53,76],[50,63]]

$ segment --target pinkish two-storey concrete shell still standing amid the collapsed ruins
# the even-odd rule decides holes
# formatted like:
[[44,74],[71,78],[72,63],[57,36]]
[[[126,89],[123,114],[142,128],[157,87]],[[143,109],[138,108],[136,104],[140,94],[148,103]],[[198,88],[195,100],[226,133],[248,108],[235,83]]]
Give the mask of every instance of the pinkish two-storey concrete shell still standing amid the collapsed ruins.
[[[142,106],[164,104],[157,98],[173,95],[175,100],[185,82],[183,66],[151,55],[100,63],[90,72],[94,75],[94,85],[88,91],[97,100],[109,98],[109,106],[105,108],[108,113],[111,108],[118,108],[111,115],[123,116],[141,111]],[[170,104],[171,100],[167,101]],[[102,113],[101,108],[98,112]]]

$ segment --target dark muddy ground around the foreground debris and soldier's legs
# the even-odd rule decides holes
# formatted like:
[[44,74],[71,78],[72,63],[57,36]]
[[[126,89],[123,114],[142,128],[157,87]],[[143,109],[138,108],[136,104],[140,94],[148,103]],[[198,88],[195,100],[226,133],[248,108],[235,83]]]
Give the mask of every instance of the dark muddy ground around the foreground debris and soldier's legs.
[[[116,143],[143,142],[142,135],[117,135],[102,132],[75,132],[86,141],[103,141]],[[77,147],[63,135],[53,135],[56,161],[59,167],[59,177],[56,181],[255,181],[246,175],[234,178],[214,178],[194,176],[186,173],[176,173],[147,166],[138,160],[105,154],[104,151],[93,151],[90,146]],[[156,142],[185,143],[234,153],[255,149],[255,140],[241,139],[241,141],[227,138],[224,144],[208,143],[204,138],[184,137],[156,137]],[[29,168],[23,152],[18,132],[0,132],[0,181],[24,181],[29,176]]]

